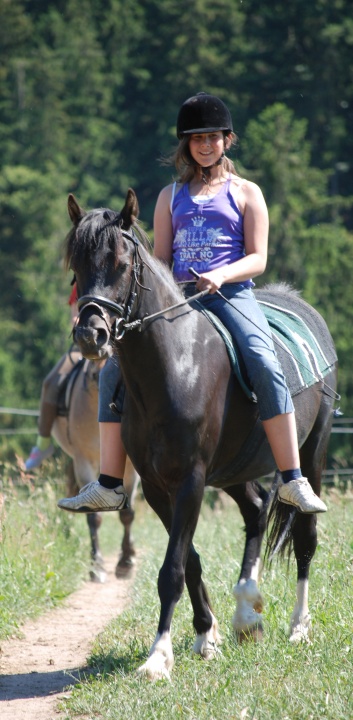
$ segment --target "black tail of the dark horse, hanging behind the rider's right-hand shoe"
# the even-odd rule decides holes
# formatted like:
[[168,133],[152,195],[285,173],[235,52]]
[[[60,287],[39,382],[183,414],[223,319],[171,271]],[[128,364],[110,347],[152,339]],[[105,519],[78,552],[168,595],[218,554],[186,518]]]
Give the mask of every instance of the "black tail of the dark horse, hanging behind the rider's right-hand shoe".
[[271,563],[275,555],[288,561],[293,552],[293,524],[297,515],[295,508],[278,500],[279,473],[276,473],[271,492],[267,520],[265,563]]

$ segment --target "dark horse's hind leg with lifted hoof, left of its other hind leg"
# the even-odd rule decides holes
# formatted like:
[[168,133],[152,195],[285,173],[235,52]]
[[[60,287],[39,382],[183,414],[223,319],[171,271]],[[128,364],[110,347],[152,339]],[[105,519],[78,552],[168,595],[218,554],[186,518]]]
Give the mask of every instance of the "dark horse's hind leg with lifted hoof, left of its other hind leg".
[[240,576],[233,588],[236,610],[232,624],[241,642],[250,638],[262,639],[262,596],[258,588],[260,552],[266,529],[267,492],[255,482],[224,488],[238,503],[245,522],[245,548]]

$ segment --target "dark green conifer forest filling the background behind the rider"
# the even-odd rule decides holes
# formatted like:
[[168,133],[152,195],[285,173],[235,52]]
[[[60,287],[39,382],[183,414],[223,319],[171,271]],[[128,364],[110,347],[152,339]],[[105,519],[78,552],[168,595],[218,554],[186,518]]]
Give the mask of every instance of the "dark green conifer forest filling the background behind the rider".
[[[68,193],[119,210],[131,186],[151,231],[178,108],[203,90],[228,104],[236,167],[269,207],[257,286],[287,281],[322,313],[353,416],[351,10],[351,0],[0,0],[1,406],[36,409],[70,345]],[[6,453],[32,441],[7,440]]]

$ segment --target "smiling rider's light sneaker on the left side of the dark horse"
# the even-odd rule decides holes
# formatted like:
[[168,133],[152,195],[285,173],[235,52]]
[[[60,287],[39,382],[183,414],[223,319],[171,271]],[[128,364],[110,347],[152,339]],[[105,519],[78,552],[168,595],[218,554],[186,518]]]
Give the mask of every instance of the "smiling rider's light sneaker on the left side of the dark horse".
[[70,512],[108,512],[109,510],[124,510],[128,506],[128,497],[123,485],[110,489],[100,485],[94,480],[81,488],[78,495],[73,498],[62,498],[58,507]]

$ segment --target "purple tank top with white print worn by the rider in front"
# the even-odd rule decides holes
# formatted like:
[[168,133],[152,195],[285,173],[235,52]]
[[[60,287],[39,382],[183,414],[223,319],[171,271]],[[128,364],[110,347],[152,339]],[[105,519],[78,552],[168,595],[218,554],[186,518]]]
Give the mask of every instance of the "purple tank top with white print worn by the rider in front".
[[[191,266],[202,273],[244,257],[243,216],[230,186],[228,179],[217,195],[202,204],[191,198],[188,185],[174,197],[173,274],[178,282],[192,279],[188,272]],[[251,280],[242,284],[254,286]]]

